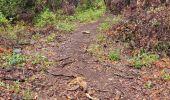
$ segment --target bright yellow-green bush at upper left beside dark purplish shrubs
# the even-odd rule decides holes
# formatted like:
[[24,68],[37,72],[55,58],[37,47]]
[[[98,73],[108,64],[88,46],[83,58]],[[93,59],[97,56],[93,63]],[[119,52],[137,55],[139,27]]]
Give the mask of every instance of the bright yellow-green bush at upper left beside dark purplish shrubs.
[[54,24],[56,19],[55,13],[45,9],[34,19],[34,24],[36,27],[45,27],[49,24]]

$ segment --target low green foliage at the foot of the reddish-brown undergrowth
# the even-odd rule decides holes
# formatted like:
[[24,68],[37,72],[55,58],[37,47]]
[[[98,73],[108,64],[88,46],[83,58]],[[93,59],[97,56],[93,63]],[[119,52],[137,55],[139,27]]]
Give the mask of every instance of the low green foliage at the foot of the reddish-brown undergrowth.
[[135,68],[140,69],[142,66],[149,66],[158,59],[159,55],[157,54],[141,53],[131,59],[131,64]]

